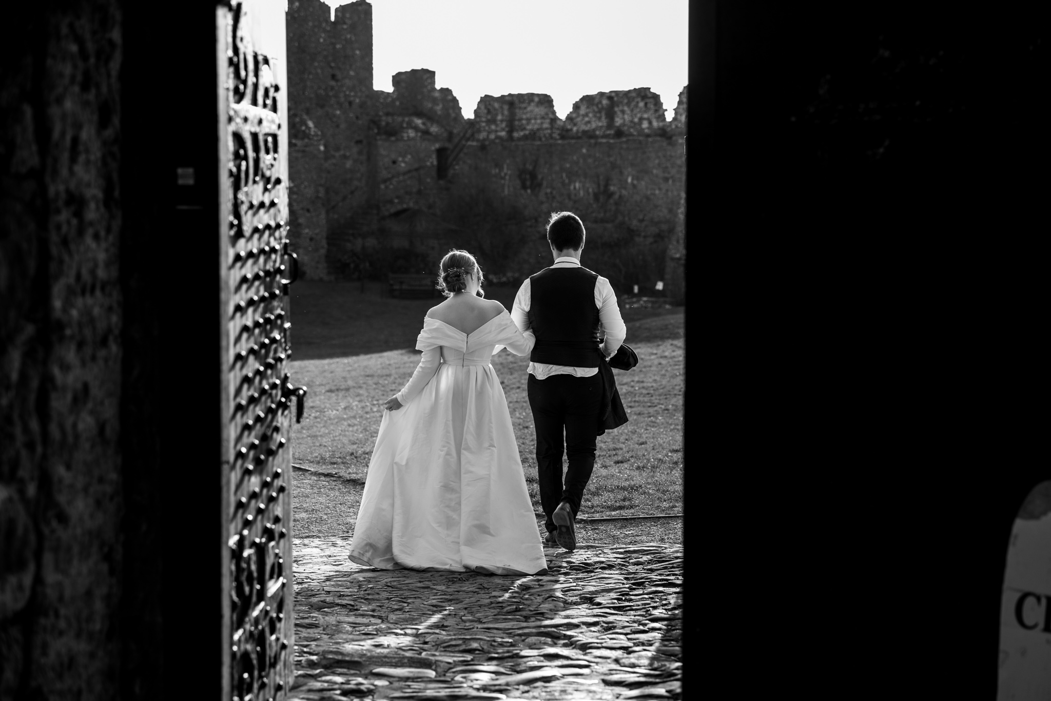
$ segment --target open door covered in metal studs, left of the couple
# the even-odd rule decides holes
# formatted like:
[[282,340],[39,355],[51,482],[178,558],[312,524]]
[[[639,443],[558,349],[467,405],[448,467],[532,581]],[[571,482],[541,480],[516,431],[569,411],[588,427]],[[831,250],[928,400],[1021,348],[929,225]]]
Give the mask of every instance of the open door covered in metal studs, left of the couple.
[[[224,632],[236,701],[280,701],[292,668],[289,430],[305,390],[291,384],[285,7],[241,0],[217,11],[220,294],[228,572]],[[297,418],[297,417],[296,417]]]

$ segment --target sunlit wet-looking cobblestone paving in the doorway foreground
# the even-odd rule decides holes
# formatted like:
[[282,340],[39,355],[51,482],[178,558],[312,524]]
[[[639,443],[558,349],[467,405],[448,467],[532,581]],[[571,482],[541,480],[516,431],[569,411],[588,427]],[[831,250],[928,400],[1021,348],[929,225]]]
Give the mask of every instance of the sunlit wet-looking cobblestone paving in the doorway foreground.
[[681,698],[682,547],[545,550],[549,575],[383,571],[294,547],[290,699]]

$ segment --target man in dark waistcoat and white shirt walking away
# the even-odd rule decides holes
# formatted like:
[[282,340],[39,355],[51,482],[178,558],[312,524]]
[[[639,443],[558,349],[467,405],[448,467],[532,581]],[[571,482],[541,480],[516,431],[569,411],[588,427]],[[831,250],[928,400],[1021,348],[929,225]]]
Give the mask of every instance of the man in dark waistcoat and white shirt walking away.
[[[511,318],[520,331],[536,336],[528,385],[540,503],[548,517],[544,544],[574,550],[573,523],[595,466],[602,403],[599,363],[617,352],[625,328],[610,281],[580,266],[584,225],[577,215],[552,214],[548,244],[555,264],[522,283]],[[599,344],[603,335],[605,343]],[[564,484],[563,432],[569,458]]]

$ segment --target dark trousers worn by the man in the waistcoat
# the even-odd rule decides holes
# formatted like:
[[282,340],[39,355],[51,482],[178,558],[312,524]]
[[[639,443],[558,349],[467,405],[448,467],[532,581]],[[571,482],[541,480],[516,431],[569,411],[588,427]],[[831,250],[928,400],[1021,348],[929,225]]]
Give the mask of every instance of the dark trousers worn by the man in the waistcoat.
[[[568,501],[576,518],[584,487],[595,467],[595,438],[602,403],[602,376],[529,376],[529,404],[536,426],[537,478],[548,531],[557,527],[551,514]],[[563,436],[564,433],[564,448]],[[569,458],[562,479],[562,454]]]

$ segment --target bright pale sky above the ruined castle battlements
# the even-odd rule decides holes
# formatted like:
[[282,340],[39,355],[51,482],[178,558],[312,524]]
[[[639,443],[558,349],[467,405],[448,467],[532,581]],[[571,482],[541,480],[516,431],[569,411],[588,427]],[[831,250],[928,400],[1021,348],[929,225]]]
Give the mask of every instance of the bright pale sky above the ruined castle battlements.
[[581,96],[648,87],[672,119],[686,84],[688,0],[370,1],[375,89],[430,68],[467,118],[482,95],[543,92],[564,119]]

